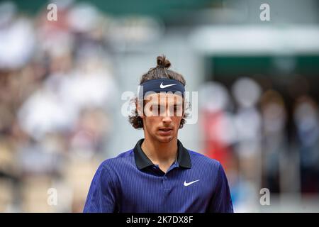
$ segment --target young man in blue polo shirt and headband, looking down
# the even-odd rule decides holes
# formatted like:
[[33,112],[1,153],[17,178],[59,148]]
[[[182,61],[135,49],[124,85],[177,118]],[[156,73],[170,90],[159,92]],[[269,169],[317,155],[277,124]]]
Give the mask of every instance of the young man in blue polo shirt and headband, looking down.
[[220,162],[187,150],[177,139],[185,123],[185,79],[157,67],[142,76],[134,128],[145,138],[135,148],[105,160],[94,175],[84,212],[233,212]]

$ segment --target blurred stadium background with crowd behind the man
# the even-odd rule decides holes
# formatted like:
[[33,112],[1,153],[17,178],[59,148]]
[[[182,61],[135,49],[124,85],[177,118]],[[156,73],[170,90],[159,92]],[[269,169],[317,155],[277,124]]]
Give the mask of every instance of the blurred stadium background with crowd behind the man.
[[0,211],[81,212],[99,164],[143,137],[121,95],[164,54],[198,92],[179,139],[223,164],[235,212],[319,212],[318,12],[315,0],[0,1]]

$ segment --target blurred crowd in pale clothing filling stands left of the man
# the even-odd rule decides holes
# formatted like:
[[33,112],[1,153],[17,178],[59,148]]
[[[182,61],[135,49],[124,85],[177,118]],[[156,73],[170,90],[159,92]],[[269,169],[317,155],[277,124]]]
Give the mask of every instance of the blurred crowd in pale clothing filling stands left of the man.
[[67,2],[54,23],[0,4],[0,211],[82,211],[105,158],[117,87],[106,18]]

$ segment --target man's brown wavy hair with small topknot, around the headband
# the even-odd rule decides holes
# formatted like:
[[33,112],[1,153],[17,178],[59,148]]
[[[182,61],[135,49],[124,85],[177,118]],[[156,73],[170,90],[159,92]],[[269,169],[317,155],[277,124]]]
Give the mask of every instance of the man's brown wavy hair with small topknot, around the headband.
[[[167,78],[167,79],[175,79],[178,82],[181,82],[184,86],[186,85],[186,81],[184,77],[172,70],[168,70],[168,68],[171,66],[171,62],[164,56],[158,56],[157,57],[157,66],[154,68],[151,68],[147,73],[142,75],[142,78],[140,79],[140,84],[150,80],[150,79],[162,79],[162,78]],[[138,104],[138,97],[135,97],[134,99],[131,100],[135,106]],[[179,128],[183,128],[184,123],[186,123],[186,119],[188,114],[185,113],[186,110],[186,102],[184,101],[184,116],[181,119],[181,123],[179,125]],[[138,109],[133,109],[132,115],[128,117],[128,121],[134,128],[143,128],[143,121],[140,116],[138,116]]]

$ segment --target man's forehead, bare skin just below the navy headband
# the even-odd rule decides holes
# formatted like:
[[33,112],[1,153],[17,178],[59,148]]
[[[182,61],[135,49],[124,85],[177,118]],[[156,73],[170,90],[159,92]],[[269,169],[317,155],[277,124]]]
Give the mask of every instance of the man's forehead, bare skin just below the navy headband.
[[157,93],[149,94],[144,99],[147,103],[150,104],[183,104],[183,97],[178,94],[169,94],[169,93]]

